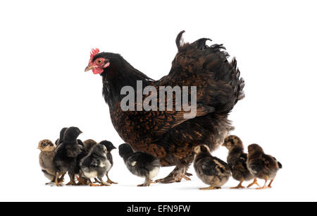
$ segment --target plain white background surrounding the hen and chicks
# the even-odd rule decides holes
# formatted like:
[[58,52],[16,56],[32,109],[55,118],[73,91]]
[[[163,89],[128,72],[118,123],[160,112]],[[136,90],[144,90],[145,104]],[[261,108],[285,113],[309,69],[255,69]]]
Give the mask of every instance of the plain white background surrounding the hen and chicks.
[[[317,200],[314,1],[113,2],[1,1],[0,200]],[[282,162],[273,188],[233,191],[228,187],[237,181],[231,179],[223,190],[199,191],[205,185],[196,176],[139,188],[143,179],[128,172],[118,150],[110,172],[118,185],[45,186],[37,144],[56,140],[63,126],[78,126],[82,140],[123,143],[101,96],[100,76],[84,73],[90,49],[120,53],[159,79],[170,69],[180,30],[185,41],[211,37],[237,57],[246,97],[230,115],[232,134]],[[213,155],[225,160],[227,150]]]

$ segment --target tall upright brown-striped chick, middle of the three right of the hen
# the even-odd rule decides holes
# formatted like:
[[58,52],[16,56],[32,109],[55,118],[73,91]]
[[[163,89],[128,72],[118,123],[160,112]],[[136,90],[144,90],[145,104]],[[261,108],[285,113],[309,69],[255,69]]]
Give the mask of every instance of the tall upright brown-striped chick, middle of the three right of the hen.
[[242,140],[237,136],[228,136],[223,143],[225,148],[228,148],[229,154],[227,162],[230,167],[233,179],[240,181],[240,183],[231,189],[244,188],[243,181],[249,181],[254,176],[247,168],[247,154],[244,153]]

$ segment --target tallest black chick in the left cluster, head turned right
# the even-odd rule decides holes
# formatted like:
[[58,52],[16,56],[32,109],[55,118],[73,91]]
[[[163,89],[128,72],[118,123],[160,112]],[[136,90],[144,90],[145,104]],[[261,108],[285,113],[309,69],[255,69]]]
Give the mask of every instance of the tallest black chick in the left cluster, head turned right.
[[82,133],[77,127],[70,127],[65,131],[63,143],[56,149],[54,156],[54,167],[56,169],[55,184],[58,184],[58,176],[68,172],[70,182],[67,185],[75,185],[75,174],[77,174],[77,156],[83,150],[83,147],[78,144],[77,137]]

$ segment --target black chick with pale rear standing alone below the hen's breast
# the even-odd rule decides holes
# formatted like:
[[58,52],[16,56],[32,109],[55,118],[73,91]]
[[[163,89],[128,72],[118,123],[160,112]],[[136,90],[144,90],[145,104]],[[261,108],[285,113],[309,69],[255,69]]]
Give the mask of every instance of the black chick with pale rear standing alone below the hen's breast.
[[150,186],[154,183],[151,179],[159,174],[161,167],[157,157],[146,152],[134,152],[128,143],[119,146],[119,155],[123,157],[125,165],[132,174],[145,178],[144,183],[138,186]]

